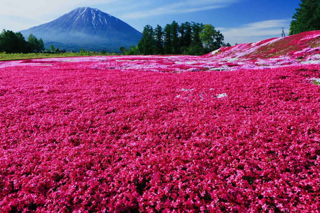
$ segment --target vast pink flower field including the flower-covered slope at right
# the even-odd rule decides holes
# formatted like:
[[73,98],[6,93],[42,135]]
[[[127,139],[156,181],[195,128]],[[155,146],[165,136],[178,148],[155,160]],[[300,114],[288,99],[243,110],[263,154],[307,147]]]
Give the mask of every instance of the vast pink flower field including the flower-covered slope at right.
[[0,62],[0,212],[319,212],[319,46]]

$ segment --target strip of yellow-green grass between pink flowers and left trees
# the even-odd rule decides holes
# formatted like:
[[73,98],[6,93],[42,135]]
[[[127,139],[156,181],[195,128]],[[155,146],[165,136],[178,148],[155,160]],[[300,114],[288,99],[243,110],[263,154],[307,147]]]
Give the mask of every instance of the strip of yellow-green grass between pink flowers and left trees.
[[[116,53],[106,53],[104,56],[115,56]],[[11,61],[11,60],[25,60],[34,58],[57,58],[57,57],[77,57],[77,56],[88,56],[88,54],[80,53],[0,53],[0,61]],[[90,52],[90,56],[102,56],[99,52]]]

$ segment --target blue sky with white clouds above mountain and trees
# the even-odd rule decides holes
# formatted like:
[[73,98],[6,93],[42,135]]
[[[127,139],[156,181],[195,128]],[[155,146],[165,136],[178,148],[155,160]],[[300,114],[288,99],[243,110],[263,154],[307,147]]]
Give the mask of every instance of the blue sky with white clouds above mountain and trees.
[[211,24],[224,42],[256,42],[285,34],[300,0],[15,0],[0,7],[0,30],[20,31],[47,23],[77,7],[92,7],[139,31],[172,21]]

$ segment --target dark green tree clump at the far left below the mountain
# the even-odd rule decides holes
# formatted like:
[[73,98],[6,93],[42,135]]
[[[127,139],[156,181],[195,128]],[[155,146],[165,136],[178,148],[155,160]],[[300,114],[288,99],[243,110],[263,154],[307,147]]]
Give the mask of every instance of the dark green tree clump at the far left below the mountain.
[[3,30],[0,34],[0,52],[6,53],[33,53],[43,52],[44,43],[33,34],[30,34],[28,40],[21,33],[14,33],[11,30]]

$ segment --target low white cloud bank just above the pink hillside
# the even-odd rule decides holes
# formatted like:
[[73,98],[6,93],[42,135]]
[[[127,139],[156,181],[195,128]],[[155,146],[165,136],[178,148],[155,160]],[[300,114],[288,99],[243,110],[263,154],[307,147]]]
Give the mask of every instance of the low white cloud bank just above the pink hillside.
[[245,24],[235,28],[217,28],[224,35],[225,42],[251,43],[262,39],[278,37],[281,35],[282,27],[285,34],[289,33],[291,19],[266,20]]

